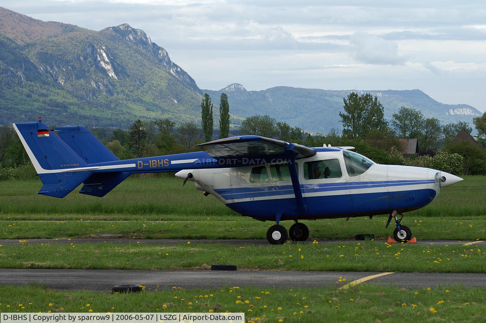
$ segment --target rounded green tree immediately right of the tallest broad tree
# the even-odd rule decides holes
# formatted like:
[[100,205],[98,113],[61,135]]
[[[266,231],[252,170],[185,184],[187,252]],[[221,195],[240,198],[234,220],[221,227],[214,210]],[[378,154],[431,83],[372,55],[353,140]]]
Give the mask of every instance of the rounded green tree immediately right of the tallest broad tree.
[[392,126],[402,139],[416,138],[424,126],[422,112],[406,106],[393,114]]

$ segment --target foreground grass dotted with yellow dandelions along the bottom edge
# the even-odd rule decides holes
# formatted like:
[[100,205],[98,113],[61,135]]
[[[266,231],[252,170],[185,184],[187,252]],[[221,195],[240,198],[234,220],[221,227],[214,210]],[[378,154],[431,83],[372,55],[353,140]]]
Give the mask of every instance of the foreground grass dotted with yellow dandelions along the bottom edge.
[[[0,287],[1,312],[243,312],[246,322],[484,322],[486,288],[171,289],[108,294]],[[406,318],[404,320],[404,318]],[[279,321],[282,320],[282,321]]]

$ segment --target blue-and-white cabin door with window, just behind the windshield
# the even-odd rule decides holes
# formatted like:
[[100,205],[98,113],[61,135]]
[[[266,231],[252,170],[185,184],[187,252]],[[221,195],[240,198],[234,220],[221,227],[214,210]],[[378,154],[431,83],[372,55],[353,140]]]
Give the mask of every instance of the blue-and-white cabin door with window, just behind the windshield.
[[303,193],[312,215],[342,215],[353,211],[344,169],[338,156],[303,163]]

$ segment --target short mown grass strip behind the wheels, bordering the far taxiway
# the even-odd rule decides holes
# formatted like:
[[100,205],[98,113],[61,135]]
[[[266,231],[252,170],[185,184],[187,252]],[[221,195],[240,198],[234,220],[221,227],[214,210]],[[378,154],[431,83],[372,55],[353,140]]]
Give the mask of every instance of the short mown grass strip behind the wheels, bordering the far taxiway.
[[[206,217],[196,221],[0,221],[0,239],[23,238],[79,238],[92,234],[122,234],[125,238],[209,238],[263,239],[268,227],[275,222],[255,221],[234,217],[220,221]],[[393,236],[393,223],[385,229],[386,217],[372,220],[356,218],[304,221],[311,239],[349,239],[357,233],[373,233],[377,239]],[[289,228],[293,221],[282,221]],[[486,240],[486,218],[459,220],[458,218],[415,218],[407,216],[402,224],[408,226],[421,240]]]

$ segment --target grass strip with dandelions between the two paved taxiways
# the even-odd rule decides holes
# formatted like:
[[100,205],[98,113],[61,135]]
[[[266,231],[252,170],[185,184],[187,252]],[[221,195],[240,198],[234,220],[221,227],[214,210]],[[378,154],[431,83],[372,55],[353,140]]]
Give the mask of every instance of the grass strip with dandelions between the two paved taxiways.
[[207,270],[213,263],[243,270],[486,272],[480,245],[410,245],[375,241],[285,245],[190,243],[31,244],[0,247],[0,268]]

